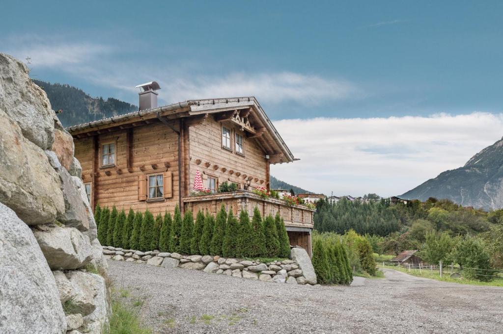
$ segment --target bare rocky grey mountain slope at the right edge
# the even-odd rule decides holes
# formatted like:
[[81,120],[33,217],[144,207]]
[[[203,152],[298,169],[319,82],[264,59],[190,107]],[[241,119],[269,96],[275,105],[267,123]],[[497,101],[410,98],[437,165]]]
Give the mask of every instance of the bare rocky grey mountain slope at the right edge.
[[475,154],[463,167],[445,171],[399,197],[448,198],[464,206],[502,208],[503,138]]

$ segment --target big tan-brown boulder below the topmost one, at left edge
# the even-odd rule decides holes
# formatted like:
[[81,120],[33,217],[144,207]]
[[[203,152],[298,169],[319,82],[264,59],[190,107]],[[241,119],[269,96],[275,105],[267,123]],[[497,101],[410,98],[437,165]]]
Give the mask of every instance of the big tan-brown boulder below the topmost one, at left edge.
[[64,211],[57,173],[44,151],[23,137],[19,126],[2,108],[0,119],[0,202],[28,225],[54,222]]

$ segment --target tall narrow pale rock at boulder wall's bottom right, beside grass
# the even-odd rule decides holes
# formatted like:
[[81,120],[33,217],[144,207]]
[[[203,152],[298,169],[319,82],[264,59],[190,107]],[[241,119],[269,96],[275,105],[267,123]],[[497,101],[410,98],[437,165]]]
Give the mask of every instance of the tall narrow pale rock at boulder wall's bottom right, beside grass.
[[104,329],[107,328],[108,318],[111,314],[110,304],[107,299],[107,287],[105,279],[100,275],[91,273],[88,273],[88,275],[88,281],[95,292],[93,298],[95,309],[91,314],[84,317],[84,322],[88,333],[102,334]]

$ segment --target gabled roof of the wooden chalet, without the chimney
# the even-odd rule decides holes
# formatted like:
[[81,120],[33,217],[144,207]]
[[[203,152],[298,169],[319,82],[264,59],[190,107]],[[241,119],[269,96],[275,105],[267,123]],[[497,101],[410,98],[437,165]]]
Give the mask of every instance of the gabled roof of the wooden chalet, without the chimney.
[[260,136],[255,139],[263,150],[269,154],[271,163],[293,162],[299,160],[294,158],[292,152],[287,147],[278,131],[267,117],[264,109],[254,96],[232,97],[216,99],[187,100],[175,104],[155,107],[152,109],[141,110],[125,115],[115,116],[108,119],[79,124],[66,128],[74,137],[85,137],[91,132],[102,129],[117,128],[126,124],[132,124],[138,121],[148,121],[149,119],[179,119],[205,114],[216,114],[222,112],[232,112],[249,108],[248,118],[257,129]]

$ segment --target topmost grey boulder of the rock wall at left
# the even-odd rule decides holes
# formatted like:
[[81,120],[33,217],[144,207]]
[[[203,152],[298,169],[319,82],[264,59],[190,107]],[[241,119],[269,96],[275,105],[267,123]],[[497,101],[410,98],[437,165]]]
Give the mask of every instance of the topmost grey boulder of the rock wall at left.
[[52,146],[55,114],[46,93],[32,82],[25,64],[4,53],[0,53],[0,110],[29,141],[43,150]]

